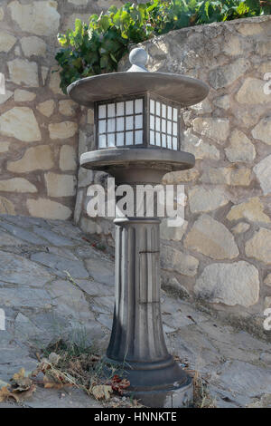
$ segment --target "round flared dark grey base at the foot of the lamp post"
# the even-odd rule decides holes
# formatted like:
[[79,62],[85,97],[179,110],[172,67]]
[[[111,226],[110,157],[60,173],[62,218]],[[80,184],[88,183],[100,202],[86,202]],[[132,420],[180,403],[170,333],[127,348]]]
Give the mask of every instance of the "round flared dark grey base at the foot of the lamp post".
[[[151,408],[187,408],[193,400],[192,377],[169,356],[162,363],[121,363],[105,358],[105,373],[127,379],[125,396]],[[116,370],[115,370],[116,369]]]

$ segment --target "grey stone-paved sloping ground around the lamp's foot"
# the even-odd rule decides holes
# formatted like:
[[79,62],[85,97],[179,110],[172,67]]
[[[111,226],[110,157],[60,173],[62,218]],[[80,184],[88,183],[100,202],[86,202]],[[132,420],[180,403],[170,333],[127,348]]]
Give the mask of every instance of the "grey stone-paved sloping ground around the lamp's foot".
[[[72,277],[72,280],[70,279]],[[70,222],[0,217],[0,387],[53,339],[104,351],[114,307],[114,261]],[[162,291],[169,350],[209,383],[218,407],[271,407],[271,345],[220,324]],[[269,404],[269,405],[268,405]],[[38,389],[29,407],[98,407],[79,390]],[[10,406],[0,403],[1,407]]]

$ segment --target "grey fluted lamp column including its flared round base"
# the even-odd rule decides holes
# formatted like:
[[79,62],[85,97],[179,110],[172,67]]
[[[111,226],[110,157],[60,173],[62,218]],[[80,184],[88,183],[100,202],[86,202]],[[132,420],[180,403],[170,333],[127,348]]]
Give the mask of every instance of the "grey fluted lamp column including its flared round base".
[[160,219],[116,218],[116,303],[106,362],[151,407],[192,401],[192,379],[167,351],[160,303]]

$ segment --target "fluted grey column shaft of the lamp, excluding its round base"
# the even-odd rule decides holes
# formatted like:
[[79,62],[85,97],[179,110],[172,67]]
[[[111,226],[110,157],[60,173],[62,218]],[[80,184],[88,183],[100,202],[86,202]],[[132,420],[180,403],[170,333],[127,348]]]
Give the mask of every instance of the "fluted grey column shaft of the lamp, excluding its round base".
[[107,358],[126,363],[169,360],[160,307],[157,218],[117,218],[116,305]]

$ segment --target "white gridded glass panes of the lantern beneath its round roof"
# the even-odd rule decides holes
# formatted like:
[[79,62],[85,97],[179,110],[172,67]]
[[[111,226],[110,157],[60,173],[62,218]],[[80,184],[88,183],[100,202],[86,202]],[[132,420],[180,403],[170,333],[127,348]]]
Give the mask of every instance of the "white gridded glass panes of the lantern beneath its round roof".
[[179,149],[178,106],[157,96],[157,99],[148,98],[147,107],[146,99],[142,96],[98,104],[98,149],[146,143],[168,150]]

